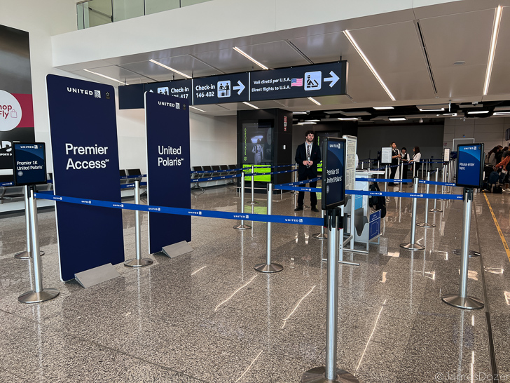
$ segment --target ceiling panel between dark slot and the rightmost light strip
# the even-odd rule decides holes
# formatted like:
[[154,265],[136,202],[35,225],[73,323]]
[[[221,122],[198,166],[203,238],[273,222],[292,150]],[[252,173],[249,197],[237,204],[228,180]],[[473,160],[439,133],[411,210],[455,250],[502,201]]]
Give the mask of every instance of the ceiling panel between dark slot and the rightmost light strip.
[[420,20],[439,97],[482,94],[494,15],[488,9]]

